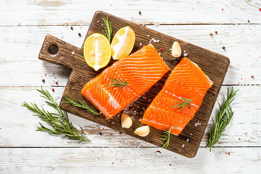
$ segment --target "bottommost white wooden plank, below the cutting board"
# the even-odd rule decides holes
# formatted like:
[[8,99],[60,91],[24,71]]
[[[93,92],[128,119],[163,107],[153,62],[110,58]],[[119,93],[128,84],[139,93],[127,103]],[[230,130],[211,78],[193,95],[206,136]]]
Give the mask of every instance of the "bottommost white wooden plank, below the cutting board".
[[[160,150],[161,153],[156,152]],[[228,153],[229,152],[229,153]],[[199,148],[187,159],[160,148],[1,148],[2,173],[260,173],[261,148]],[[214,165],[218,162],[218,165]]]

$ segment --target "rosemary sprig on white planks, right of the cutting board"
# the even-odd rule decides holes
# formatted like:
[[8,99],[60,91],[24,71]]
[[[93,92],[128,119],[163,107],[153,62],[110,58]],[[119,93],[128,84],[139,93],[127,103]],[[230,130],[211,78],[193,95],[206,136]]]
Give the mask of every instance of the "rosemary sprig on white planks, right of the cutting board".
[[210,147],[209,151],[211,151],[211,148],[214,146],[214,144],[216,144],[218,139],[224,134],[226,126],[229,124],[230,120],[233,117],[234,112],[232,111],[230,104],[231,102],[233,102],[233,98],[238,90],[234,91],[232,86],[231,91],[229,92],[228,88],[228,96],[226,101],[225,95],[223,95],[223,107],[221,107],[218,103],[220,111],[218,112],[217,110],[216,124],[214,123],[214,120],[212,118],[215,128],[210,127],[209,143],[207,145],[207,147]]

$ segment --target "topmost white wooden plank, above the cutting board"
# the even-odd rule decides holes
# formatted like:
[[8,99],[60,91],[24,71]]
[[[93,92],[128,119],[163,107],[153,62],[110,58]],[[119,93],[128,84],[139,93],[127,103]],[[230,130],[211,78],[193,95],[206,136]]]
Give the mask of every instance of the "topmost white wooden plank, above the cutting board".
[[[1,26],[90,24],[103,10],[138,24],[260,23],[260,4],[248,1],[3,1]],[[15,11],[15,13],[14,13]],[[138,12],[141,11],[141,15]],[[17,15],[19,14],[19,15]],[[32,15],[34,14],[34,15]]]

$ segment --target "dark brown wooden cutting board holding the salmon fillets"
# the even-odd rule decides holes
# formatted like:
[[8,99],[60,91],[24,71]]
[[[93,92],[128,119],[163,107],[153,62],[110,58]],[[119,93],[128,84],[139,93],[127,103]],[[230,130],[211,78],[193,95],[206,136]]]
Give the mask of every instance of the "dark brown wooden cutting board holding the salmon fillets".
[[[164,134],[163,130],[157,130],[154,127],[150,126],[150,133],[146,137],[139,137],[137,134],[134,133],[134,131],[136,128],[143,126],[143,124],[138,121],[143,117],[145,111],[143,108],[146,109],[149,106],[157,93],[162,89],[161,86],[164,85],[165,81],[168,78],[168,75],[184,57],[184,55],[182,54],[182,56],[174,60],[171,55],[171,51],[169,49],[172,47],[173,42],[177,41],[180,44],[183,53],[184,50],[186,50],[186,53],[188,53],[186,57],[195,62],[214,82],[213,86],[206,93],[203,104],[196,112],[194,118],[188,123],[182,133],[180,133],[178,136],[172,136],[170,139],[169,150],[182,154],[183,156],[189,158],[195,157],[204,131],[207,127],[207,123],[209,121],[210,114],[215,104],[218,92],[225,78],[230,63],[229,59],[223,55],[192,45],[182,40],[178,40],[177,38],[123,20],[122,18],[113,16],[102,11],[95,12],[89,30],[86,34],[86,38],[93,33],[103,34],[102,30],[104,30],[104,22],[102,17],[106,16],[108,16],[108,19],[111,23],[113,36],[117,32],[117,30],[122,27],[130,26],[133,29],[136,35],[136,40],[132,52],[135,52],[142,48],[142,46],[140,46],[140,43],[142,43],[143,45],[147,45],[151,38],[154,38],[154,40],[159,40],[159,42],[152,41],[152,44],[158,50],[158,52],[160,52],[163,60],[169,66],[170,71],[167,72],[160,81],[158,81],[157,85],[155,84],[151,89],[149,89],[148,92],[145,93],[146,99],[139,98],[132,104],[133,110],[136,110],[138,113],[142,112],[142,114],[130,114],[130,116],[134,117],[135,121],[133,121],[133,125],[129,129],[122,128],[121,118],[118,118],[117,116],[113,117],[110,120],[106,120],[106,118],[102,115],[97,116],[93,114],[88,114],[87,111],[84,109],[74,107],[68,103],[62,103],[66,101],[64,96],[62,97],[59,106],[64,111],[78,115],[79,117],[107,126],[119,132],[126,133],[132,137],[144,140],[156,146],[162,147],[164,143],[160,140],[160,138],[162,138]],[[163,50],[160,51],[159,48],[163,48]],[[57,51],[57,53],[53,54],[53,52],[55,51]],[[72,54],[72,51],[74,51],[74,54]],[[51,35],[46,36],[38,57],[41,60],[71,68],[72,71],[65,87],[64,94],[68,94],[70,97],[74,96],[75,98],[84,101],[88,105],[90,105],[90,103],[81,94],[82,88],[88,81],[95,78],[99,73],[101,73],[103,70],[105,70],[107,67],[115,62],[111,60],[109,65],[107,65],[105,68],[94,71],[85,62],[83,46],[81,48],[77,48]],[[195,123],[197,122],[199,122],[201,125],[195,126]],[[188,139],[189,141],[187,142]]]

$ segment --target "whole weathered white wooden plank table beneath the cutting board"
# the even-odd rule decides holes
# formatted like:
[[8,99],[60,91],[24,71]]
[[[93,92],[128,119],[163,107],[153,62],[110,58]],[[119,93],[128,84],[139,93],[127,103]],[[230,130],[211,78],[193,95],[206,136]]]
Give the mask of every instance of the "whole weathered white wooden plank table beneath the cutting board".
[[[2,0],[0,173],[260,173],[259,8],[259,0]],[[240,90],[232,104],[234,117],[231,124],[212,152],[205,148],[212,121],[209,121],[193,159],[119,134],[72,114],[69,114],[70,120],[84,128],[91,143],[78,144],[77,141],[35,131],[41,120],[32,116],[30,110],[21,107],[22,103],[26,101],[43,105],[44,100],[36,90],[41,85],[59,102],[70,74],[70,69],[38,60],[46,34],[80,47],[97,10],[145,24],[148,28],[229,57],[230,67],[217,102],[222,102],[228,87],[234,85],[235,89]],[[142,15],[139,15],[139,11]],[[66,23],[68,29],[64,26]],[[75,23],[77,26],[74,26]],[[79,32],[82,37],[78,36]],[[210,33],[213,35],[210,36]],[[224,46],[226,50],[222,49]],[[254,78],[251,78],[252,75]],[[55,92],[52,92],[48,86],[55,76],[58,86],[54,85]],[[43,83],[42,79],[46,82]],[[217,106],[216,103],[212,118],[215,118]],[[48,109],[46,105],[44,107]]]

